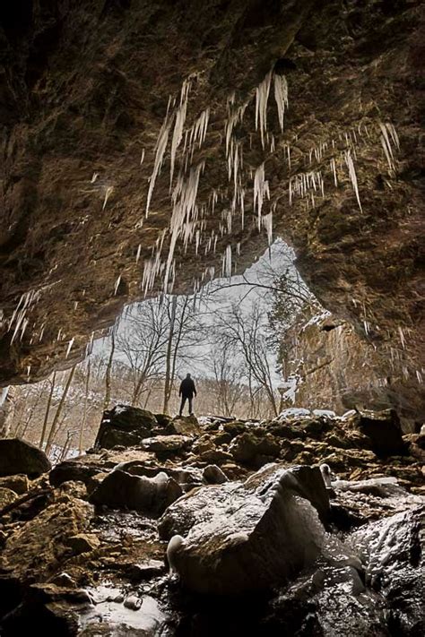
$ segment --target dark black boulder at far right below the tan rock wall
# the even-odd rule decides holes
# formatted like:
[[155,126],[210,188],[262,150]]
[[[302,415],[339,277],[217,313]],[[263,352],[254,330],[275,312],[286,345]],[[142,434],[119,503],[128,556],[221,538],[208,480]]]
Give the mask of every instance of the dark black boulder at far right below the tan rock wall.
[[402,426],[394,409],[359,411],[351,417],[351,427],[368,436],[378,456],[402,455],[406,451]]

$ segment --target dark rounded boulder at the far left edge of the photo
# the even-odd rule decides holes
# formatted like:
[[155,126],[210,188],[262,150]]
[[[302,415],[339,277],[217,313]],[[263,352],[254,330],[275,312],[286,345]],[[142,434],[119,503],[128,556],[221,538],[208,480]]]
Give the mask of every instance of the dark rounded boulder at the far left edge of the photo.
[[52,468],[46,453],[20,438],[0,439],[0,477],[23,473],[37,478]]

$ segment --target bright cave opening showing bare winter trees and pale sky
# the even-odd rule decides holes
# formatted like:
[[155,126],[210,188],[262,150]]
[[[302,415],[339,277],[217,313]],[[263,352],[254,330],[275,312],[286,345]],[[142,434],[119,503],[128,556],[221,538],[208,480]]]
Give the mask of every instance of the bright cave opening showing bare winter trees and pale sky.
[[8,435],[64,460],[92,445],[102,412],[117,403],[177,414],[187,373],[195,378],[197,416],[278,415],[294,397],[283,334],[319,307],[294,259],[278,239],[242,274],[226,276],[224,264],[221,278],[193,294],[126,306],[82,362],[10,390]]

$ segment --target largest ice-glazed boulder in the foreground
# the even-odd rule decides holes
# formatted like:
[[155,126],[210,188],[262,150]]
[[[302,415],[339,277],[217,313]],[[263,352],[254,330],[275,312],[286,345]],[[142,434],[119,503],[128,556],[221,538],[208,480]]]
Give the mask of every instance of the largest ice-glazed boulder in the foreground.
[[186,536],[168,555],[188,589],[266,590],[314,562],[325,536],[318,512],[328,506],[318,468],[274,465],[245,483],[204,486],[180,498],[160,519],[160,537]]

